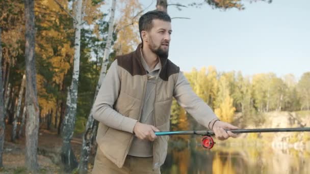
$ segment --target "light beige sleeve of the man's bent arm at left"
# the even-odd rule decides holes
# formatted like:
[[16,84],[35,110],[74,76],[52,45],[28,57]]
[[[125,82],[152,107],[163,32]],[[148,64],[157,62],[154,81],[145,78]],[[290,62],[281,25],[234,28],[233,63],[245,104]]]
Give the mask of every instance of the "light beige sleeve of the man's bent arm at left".
[[116,60],[111,64],[104,81],[102,81],[93,106],[93,117],[111,128],[133,133],[137,120],[125,117],[113,108],[119,91],[120,78]]

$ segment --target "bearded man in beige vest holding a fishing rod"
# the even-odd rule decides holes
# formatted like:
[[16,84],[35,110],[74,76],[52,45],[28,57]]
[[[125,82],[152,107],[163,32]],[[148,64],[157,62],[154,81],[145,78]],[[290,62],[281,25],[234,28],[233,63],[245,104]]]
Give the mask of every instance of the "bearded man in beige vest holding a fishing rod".
[[94,104],[99,127],[93,173],[160,173],[168,136],[154,132],[169,131],[173,97],[216,138],[236,137],[224,129],[237,127],[219,121],[168,60],[169,15],[147,12],[139,19],[139,32],[142,43],[112,63]]

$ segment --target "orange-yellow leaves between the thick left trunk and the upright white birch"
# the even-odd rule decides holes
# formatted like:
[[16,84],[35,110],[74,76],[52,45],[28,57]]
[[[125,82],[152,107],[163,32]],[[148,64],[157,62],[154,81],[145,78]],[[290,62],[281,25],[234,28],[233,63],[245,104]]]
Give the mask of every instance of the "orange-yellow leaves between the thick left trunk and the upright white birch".
[[[67,1],[58,2],[62,7],[67,7]],[[48,14],[48,20],[45,20],[42,14]],[[35,15],[37,20],[40,21],[39,25],[42,27],[40,33],[36,35],[36,59],[38,59],[39,62],[41,61],[40,59],[43,59],[51,64],[51,66],[46,68],[54,72],[53,82],[58,86],[62,86],[64,76],[70,69],[70,62],[73,60],[74,50],[73,47],[71,47],[68,34],[72,34],[74,30],[73,28],[68,30],[68,28],[63,26],[62,22],[59,21],[60,15],[66,16],[67,14],[53,0],[35,2]],[[57,25],[57,27],[55,25]],[[56,43],[60,40],[61,43]],[[56,96],[47,93],[45,89],[46,83],[46,78],[37,74],[38,103],[41,108],[41,115],[45,115],[50,112],[50,110],[57,108]],[[53,115],[55,114],[56,112],[54,111]],[[53,115],[52,117],[54,117]]]

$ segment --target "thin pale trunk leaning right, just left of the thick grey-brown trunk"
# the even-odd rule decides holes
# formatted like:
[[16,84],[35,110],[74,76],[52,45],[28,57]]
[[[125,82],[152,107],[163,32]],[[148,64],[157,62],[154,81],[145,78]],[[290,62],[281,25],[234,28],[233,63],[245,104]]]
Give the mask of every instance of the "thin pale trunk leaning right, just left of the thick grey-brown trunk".
[[15,139],[16,139],[17,122],[18,122],[19,115],[20,115],[20,106],[21,106],[21,101],[23,99],[23,89],[25,87],[25,81],[26,81],[26,76],[24,74],[22,76],[22,81],[20,84],[20,90],[19,90],[19,94],[18,94],[17,106],[16,106],[16,110],[14,113],[14,121],[13,121],[13,129],[12,129],[12,141],[13,142],[15,142]]

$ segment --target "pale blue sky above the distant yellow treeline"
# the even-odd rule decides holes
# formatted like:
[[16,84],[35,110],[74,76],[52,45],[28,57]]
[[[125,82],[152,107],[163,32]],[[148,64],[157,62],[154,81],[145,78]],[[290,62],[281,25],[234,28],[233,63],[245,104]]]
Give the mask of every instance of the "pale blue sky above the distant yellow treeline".
[[[145,8],[151,2],[148,10],[154,10],[156,0],[140,0]],[[214,66],[220,72],[291,73],[299,79],[310,71],[310,1],[243,2],[242,11],[168,6],[171,17],[190,18],[172,19],[169,59],[185,72]]]

